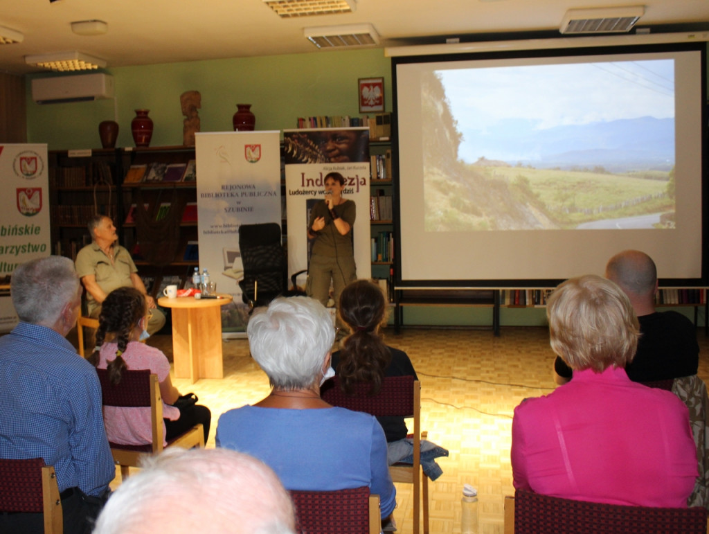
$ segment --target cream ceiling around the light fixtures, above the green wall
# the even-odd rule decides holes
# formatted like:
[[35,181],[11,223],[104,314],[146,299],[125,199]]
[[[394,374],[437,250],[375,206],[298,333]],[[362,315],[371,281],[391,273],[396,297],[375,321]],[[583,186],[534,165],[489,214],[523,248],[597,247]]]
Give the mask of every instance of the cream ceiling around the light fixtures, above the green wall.
[[[24,56],[78,50],[107,67],[225,57],[327,53],[303,38],[306,26],[372,23],[384,46],[476,40],[505,33],[558,35],[570,8],[645,6],[637,27],[709,29],[709,0],[357,0],[354,13],[280,18],[262,0],[0,0],[0,26],[24,34],[0,45],[0,70],[38,72]],[[108,33],[74,35],[73,21],[99,19]],[[467,37],[464,37],[467,36]],[[529,35],[527,35],[529,36]],[[510,35],[501,35],[508,39]]]

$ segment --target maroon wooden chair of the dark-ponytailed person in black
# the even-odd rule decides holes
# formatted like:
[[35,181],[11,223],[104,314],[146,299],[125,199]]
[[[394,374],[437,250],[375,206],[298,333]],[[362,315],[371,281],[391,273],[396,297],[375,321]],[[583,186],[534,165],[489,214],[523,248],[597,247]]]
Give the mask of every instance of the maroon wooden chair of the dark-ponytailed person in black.
[[369,389],[369,384],[355,384],[354,394],[346,395],[334,377],[323,384],[320,395],[328,404],[372,416],[413,417],[413,465],[394,464],[389,472],[393,482],[413,484],[413,532],[420,532],[423,508],[423,532],[428,534],[428,477],[421,470],[421,439],[426,437],[421,431],[421,384],[411,376],[384,377],[378,394],[369,395]]

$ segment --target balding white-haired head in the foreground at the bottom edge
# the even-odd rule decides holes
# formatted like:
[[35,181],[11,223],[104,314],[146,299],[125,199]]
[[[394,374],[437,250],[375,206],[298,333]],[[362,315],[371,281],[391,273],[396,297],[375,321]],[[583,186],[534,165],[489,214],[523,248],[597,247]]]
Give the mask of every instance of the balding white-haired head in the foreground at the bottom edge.
[[118,487],[94,534],[293,534],[291,499],[274,472],[225,449],[166,449]]

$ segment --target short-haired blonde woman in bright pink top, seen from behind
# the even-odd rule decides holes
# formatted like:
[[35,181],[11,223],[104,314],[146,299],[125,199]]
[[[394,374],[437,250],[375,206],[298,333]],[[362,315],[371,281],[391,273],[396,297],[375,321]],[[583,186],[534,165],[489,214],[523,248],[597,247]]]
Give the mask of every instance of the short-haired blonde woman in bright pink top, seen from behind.
[[686,406],[631,382],[638,322],[613,282],[569,279],[547,302],[554,352],[574,378],[526,399],[512,423],[514,486],[564,499],[686,507],[697,476]]

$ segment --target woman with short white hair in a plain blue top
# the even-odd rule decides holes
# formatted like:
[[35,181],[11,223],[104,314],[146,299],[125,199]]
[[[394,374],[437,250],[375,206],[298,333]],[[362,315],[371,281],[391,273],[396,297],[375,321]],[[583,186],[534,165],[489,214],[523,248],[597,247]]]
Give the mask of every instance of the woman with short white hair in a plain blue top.
[[381,517],[396,506],[386,438],[376,418],[320,399],[330,376],[335,328],[318,301],[279,298],[257,308],[247,326],[251,354],[272,391],[253,406],[219,418],[216,443],[257,457],[286,489],[326,491],[369,486]]

